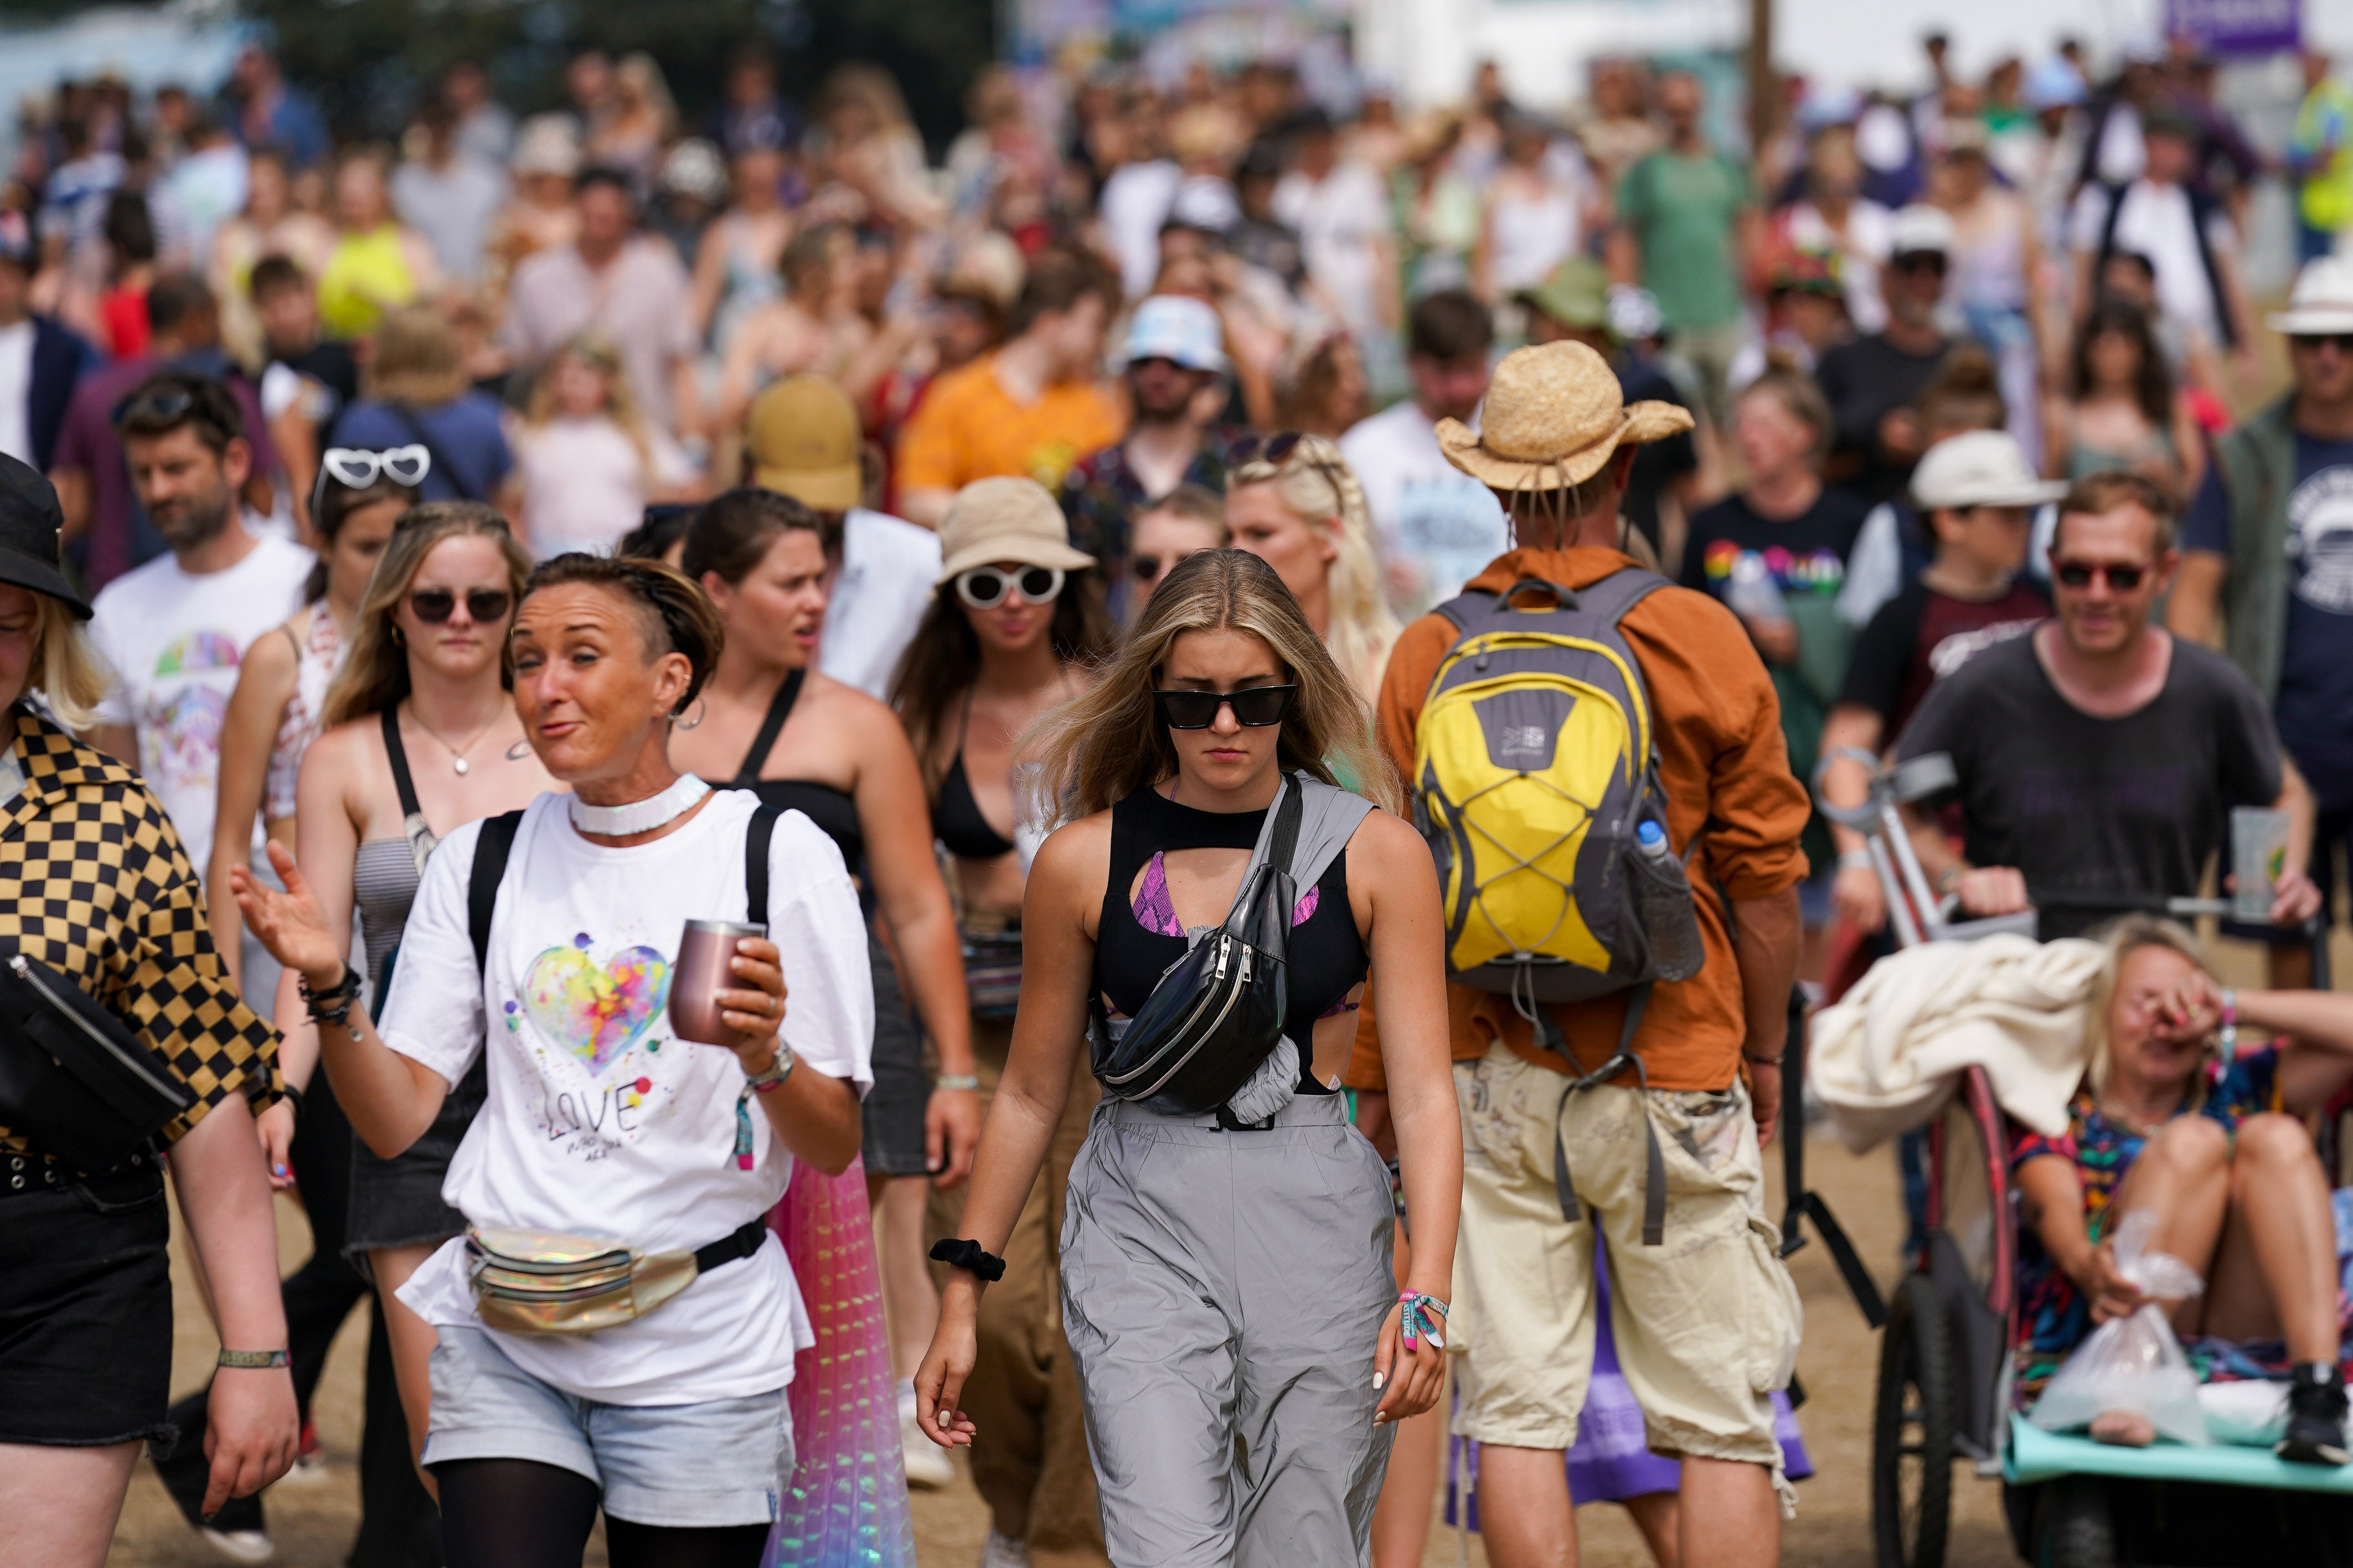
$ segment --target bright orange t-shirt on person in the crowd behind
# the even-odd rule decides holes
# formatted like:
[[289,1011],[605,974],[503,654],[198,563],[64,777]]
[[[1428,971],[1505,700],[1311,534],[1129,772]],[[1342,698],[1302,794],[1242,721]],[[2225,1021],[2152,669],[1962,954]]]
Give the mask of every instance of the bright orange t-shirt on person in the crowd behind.
[[1049,386],[1038,402],[1014,402],[984,355],[953,369],[922,395],[899,433],[901,491],[962,489],[974,480],[1019,475],[1061,491],[1071,465],[1127,435],[1127,418],[1094,381]]

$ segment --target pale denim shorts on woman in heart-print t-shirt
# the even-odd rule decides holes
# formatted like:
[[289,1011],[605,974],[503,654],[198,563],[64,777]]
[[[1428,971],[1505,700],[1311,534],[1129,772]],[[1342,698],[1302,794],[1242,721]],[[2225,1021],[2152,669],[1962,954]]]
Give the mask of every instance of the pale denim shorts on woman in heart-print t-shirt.
[[536,1460],[588,1476],[631,1523],[774,1523],[793,1481],[786,1389],[692,1406],[609,1406],[548,1387],[482,1328],[440,1328],[424,1462]]

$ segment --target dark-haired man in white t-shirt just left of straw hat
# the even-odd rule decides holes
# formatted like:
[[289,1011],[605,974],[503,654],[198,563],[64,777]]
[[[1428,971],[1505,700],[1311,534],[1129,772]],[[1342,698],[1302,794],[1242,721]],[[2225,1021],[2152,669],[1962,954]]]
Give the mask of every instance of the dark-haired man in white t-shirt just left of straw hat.
[[1400,616],[1452,599],[1511,548],[1494,494],[1438,451],[1440,418],[1478,428],[1492,346],[1494,324],[1471,294],[1447,289],[1419,299],[1405,360],[1414,395],[1339,437],[1365,487],[1388,597]]

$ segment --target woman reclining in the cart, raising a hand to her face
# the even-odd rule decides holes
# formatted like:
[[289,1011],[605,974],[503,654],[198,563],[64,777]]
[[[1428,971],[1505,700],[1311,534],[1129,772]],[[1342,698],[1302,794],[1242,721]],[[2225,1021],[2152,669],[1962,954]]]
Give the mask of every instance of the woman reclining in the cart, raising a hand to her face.
[[[2285,1375],[2280,1458],[2344,1465],[2346,1300],[2306,1117],[2353,1084],[2353,997],[2231,992],[2188,931],[2137,914],[2108,938],[2087,1030],[2068,1131],[2012,1145],[2021,1403],[2097,1324],[2146,1300],[2113,1255],[2122,1218],[2146,1208],[2151,1248],[2205,1276],[2202,1295],[2172,1305],[2191,1359],[2200,1340],[2226,1342],[2233,1366]],[[2092,1436],[2139,1446],[2153,1429],[2115,1410]]]

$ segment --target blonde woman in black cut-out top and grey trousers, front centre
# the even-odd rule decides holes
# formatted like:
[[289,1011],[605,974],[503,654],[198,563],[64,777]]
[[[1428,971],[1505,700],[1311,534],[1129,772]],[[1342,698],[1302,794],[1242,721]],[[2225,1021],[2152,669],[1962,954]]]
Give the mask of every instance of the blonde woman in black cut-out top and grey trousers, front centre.
[[[962,1232],[934,1248],[958,1272],[918,1415],[941,1446],[974,1441],[958,1399],[981,1286],[1087,1060],[1106,1088],[1071,1166],[1061,1295],[1111,1561],[1165,1561],[1181,1540],[1198,1561],[1362,1563],[1391,1422],[1438,1399],[1461,1206],[1428,849],[1332,783],[1341,757],[1391,797],[1365,701],[1242,550],[1179,562],[1028,752],[1040,804],[1068,825],[1031,870],[1021,1013]],[[1254,865],[1287,877],[1264,884]],[[1179,1001],[1162,987],[1191,983],[1188,931],[1261,886],[1268,919],[1287,917],[1273,1030],[1193,1044],[1186,1063],[1212,1081],[1115,1074],[1122,1044]],[[1426,1215],[1402,1295],[1388,1168],[1337,1088],[1374,971],[1405,1187]]]

